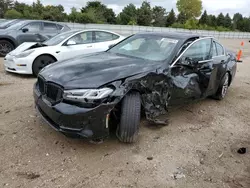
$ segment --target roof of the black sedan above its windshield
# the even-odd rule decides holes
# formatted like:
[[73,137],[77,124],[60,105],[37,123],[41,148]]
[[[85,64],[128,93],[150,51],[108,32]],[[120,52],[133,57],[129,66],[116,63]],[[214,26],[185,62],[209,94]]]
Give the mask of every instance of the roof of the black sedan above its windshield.
[[189,39],[189,38],[200,38],[202,36],[197,35],[197,34],[192,34],[192,33],[186,33],[186,32],[143,32],[143,33],[138,33],[141,35],[158,35],[158,36],[163,36],[163,37],[169,37],[169,38],[175,38],[175,39]]

